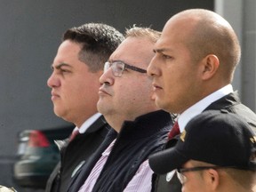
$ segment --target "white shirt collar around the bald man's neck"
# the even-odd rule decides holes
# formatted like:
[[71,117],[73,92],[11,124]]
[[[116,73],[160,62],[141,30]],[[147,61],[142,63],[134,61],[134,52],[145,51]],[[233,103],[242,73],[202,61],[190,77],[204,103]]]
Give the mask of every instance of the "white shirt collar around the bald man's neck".
[[231,84],[228,84],[216,92],[212,92],[212,94],[205,97],[203,100],[199,100],[196,104],[185,110],[180,116],[178,117],[178,124],[180,127],[180,132],[183,132],[185,126],[188,124],[188,121],[192,119],[194,116],[202,113],[205,108],[211,105],[212,102],[215,100],[219,100],[220,98],[228,95],[230,92],[233,92],[233,87]]

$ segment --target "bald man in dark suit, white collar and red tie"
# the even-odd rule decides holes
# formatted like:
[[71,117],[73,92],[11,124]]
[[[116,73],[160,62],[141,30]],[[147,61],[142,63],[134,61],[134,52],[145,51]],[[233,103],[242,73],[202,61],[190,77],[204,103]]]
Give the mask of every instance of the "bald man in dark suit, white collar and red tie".
[[[179,114],[179,128],[173,126],[165,148],[175,145],[191,118],[209,109],[242,116],[256,132],[255,113],[241,103],[231,85],[241,49],[227,20],[204,9],[179,12],[166,22],[153,50],[147,70],[156,106]],[[173,130],[179,131],[176,138]],[[170,174],[157,175],[153,187],[154,192],[181,190],[177,177]]]

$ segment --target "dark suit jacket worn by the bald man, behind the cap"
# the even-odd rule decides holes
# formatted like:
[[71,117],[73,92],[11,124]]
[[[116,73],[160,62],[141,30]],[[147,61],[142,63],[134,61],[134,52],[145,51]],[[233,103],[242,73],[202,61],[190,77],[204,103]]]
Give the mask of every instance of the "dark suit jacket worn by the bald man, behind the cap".
[[[236,92],[232,92],[227,96],[220,98],[220,100],[214,101],[210,106],[205,108],[204,111],[205,110],[225,110],[229,113],[242,116],[248,122],[248,124],[251,125],[253,132],[256,132],[256,115],[250,108],[247,108],[241,103]],[[172,140],[169,140],[166,143],[165,148],[172,148],[176,144],[179,137],[180,136],[177,135]],[[173,176],[172,180],[167,182],[166,174],[154,174],[154,180],[155,184],[153,185],[152,192],[181,192],[181,184],[175,176]]]

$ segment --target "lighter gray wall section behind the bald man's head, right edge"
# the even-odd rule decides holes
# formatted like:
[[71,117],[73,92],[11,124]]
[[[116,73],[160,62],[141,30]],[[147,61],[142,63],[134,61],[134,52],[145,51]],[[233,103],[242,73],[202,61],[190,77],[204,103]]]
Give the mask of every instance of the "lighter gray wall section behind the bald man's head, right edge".
[[236,68],[233,86],[243,103],[256,111],[256,1],[215,0],[214,11],[235,29],[242,47],[242,58]]

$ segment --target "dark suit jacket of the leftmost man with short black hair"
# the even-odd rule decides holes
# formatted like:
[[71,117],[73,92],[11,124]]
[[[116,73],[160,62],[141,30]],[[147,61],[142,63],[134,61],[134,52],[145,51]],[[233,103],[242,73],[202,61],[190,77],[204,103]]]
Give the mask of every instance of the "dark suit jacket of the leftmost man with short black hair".
[[45,192],[66,191],[71,177],[79,166],[92,155],[104,140],[109,125],[103,116],[100,116],[83,134],[60,149],[61,160],[53,170]]

